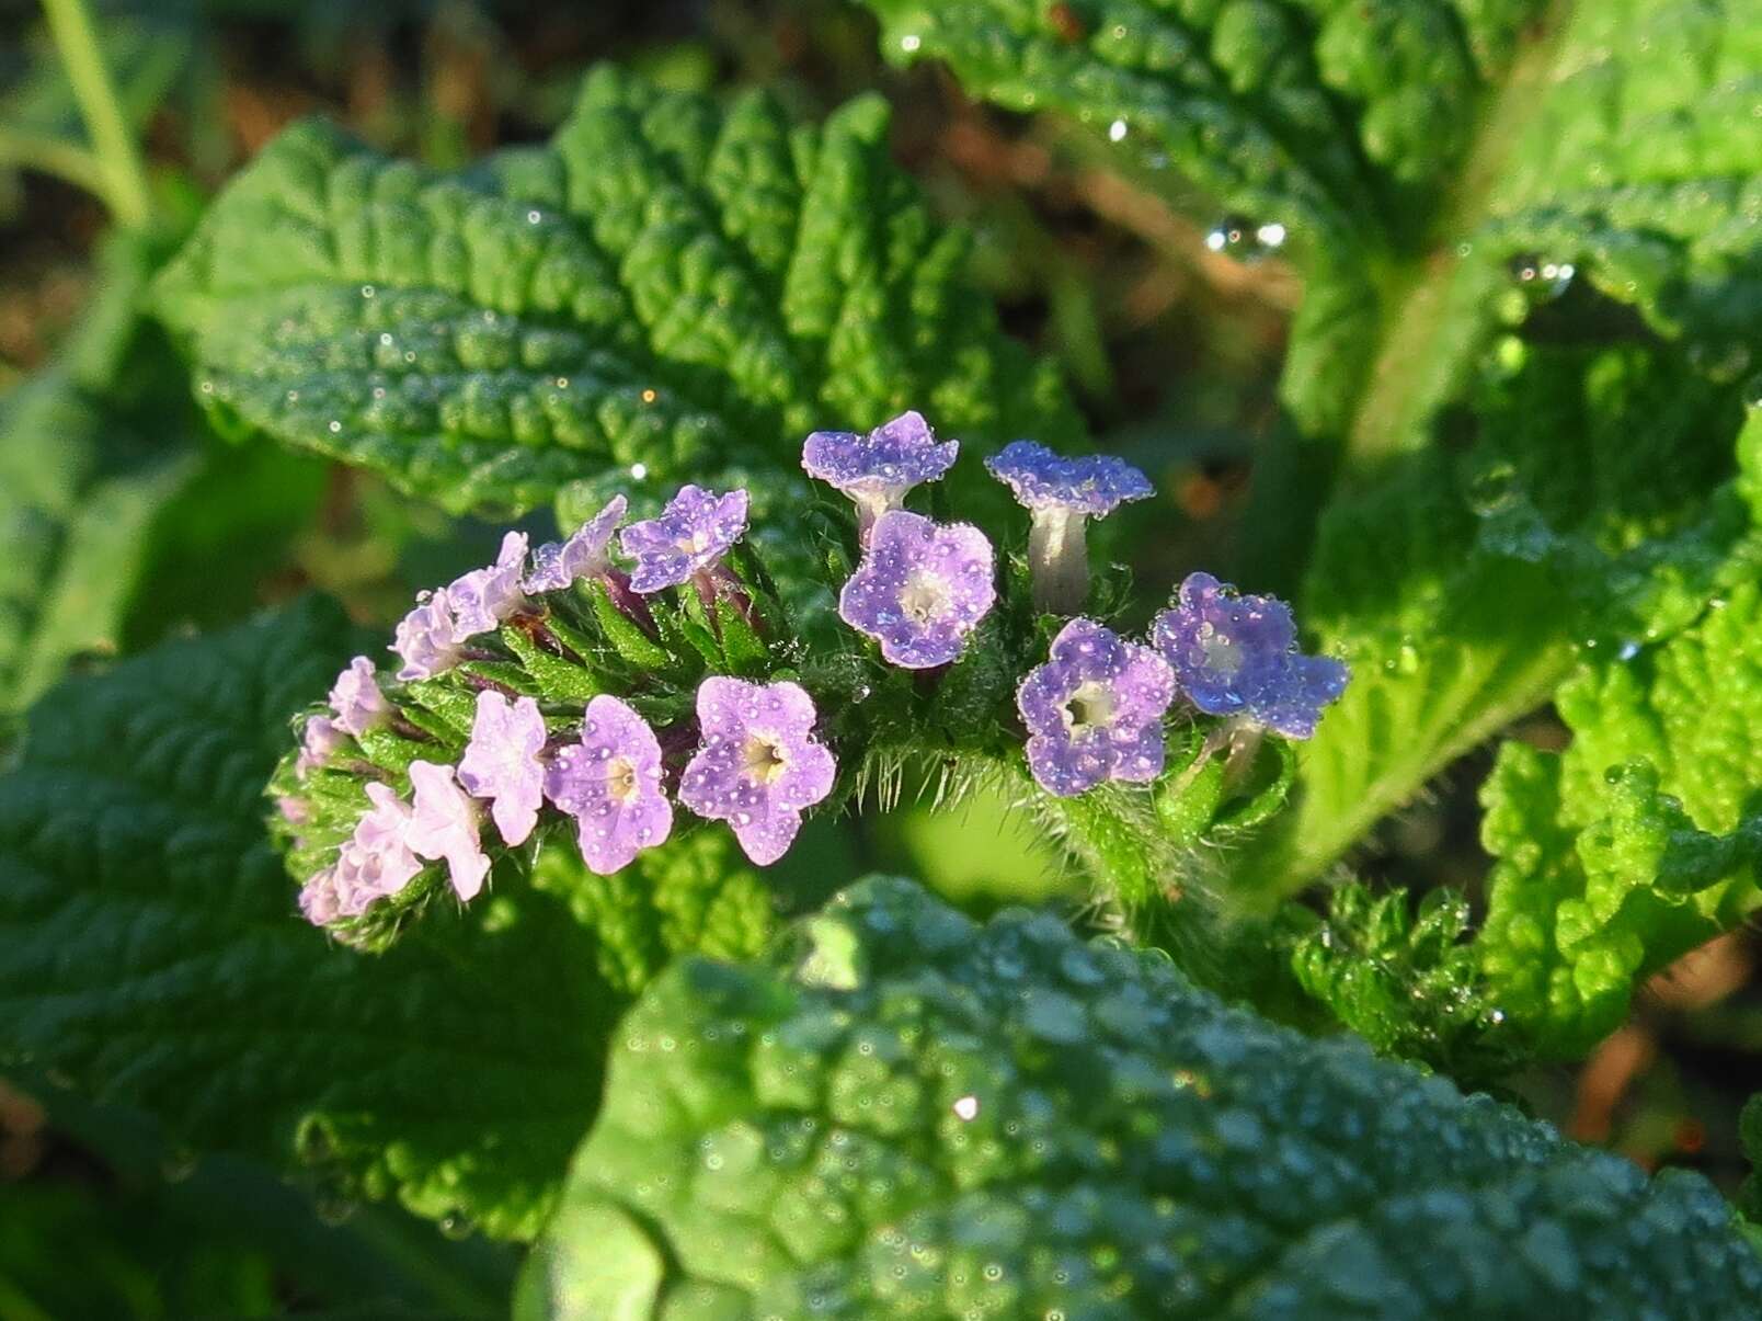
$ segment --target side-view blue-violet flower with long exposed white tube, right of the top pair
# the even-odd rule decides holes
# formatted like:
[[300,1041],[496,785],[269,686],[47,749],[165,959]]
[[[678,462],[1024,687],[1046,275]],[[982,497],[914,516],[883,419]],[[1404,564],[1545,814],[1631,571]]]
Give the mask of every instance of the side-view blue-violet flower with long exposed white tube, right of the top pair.
[[1124,459],[1066,459],[1033,441],[1011,441],[985,467],[1033,517],[1027,563],[1034,573],[1034,605],[1055,614],[1080,610],[1089,598],[1087,520],[1105,519],[1126,501],[1147,499],[1156,490]]

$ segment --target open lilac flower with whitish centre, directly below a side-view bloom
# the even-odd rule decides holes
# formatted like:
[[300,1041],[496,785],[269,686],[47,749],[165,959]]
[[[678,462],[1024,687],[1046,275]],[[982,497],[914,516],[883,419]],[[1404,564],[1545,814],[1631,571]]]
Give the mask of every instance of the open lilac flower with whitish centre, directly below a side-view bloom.
[[937,527],[907,510],[874,526],[863,563],[839,593],[839,616],[907,670],[948,665],[997,600],[992,549],[967,524]]

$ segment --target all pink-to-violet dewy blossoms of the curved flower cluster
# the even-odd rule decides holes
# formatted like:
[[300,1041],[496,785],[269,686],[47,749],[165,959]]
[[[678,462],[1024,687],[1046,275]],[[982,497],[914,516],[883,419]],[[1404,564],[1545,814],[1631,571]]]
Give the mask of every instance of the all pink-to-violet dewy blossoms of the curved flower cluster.
[[[959,661],[997,601],[996,552],[978,527],[939,524],[902,508],[906,494],[943,478],[957,453],[959,443],[937,441],[918,413],[867,436],[814,432],[803,446],[802,466],[856,504],[862,559],[842,584],[839,616],[872,638],[888,665],[934,670]],[[1107,781],[1154,781],[1165,769],[1163,725],[1177,698],[1286,737],[1314,734],[1348,670],[1299,653],[1283,601],[1244,596],[1193,573],[1175,603],[1156,616],[1147,644],[1078,614],[1089,582],[1084,526],[1152,494],[1138,469],[1110,457],[1064,459],[1029,441],[1006,446],[987,467],[1033,517],[1036,605],[1071,616],[1045,663],[1017,686],[1025,760],[1048,794],[1071,797]],[[626,513],[624,497],[615,497],[566,541],[539,547],[530,563],[525,536],[509,533],[493,564],[425,593],[396,630],[398,679],[440,674],[465,654],[469,638],[523,610],[555,607],[532,598],[583,578],[604,582],[620,608],[638,601],[631,593],[687,587],[708,600],[733,582],[722,557],[747,531],[745,490],[682,487],[659,517],[620,533]],[[613,563],[615,541],[634,561],[629,577]],[[788,852],[807,810],[823,802],[837,780],[837,758],[816,737],[814,698],[796,683],[722,674],[701,679],[698,743],[689,757],[689,725],[666,730],[663,739],[618,697],[596,695],[574,723],[555,709],[546,718],[539,698],[486,686],[483,675],[474,683],[483,691],[458,764],[411,762],[409,799],[386,783],[366,785],[368,810],[331,866],[301,889],[310,921],[358,917],[432,864],[444,864],[455,894],[470,901],[492,866],[485,827],[492,825],[504,847],[523,845],[546,802],[573,818],[592,871],[627,868],[673,834],[668,787],[675,774],[680,804],[726,822],[747,857],[768,866]],[[402,735],[414,735],[412,723],[421,723],[414,716],[414,707],[398,714],[374,663],[358,656],[337,677],[328,711],[305,721],[296,774],[335,765],[338,753],[354,746],[351,739],[365,741],[363,762],[372,760],[366,753],[379,750],[374,730],[395,723]],[[666,750],[678,760],[670,762]],[[314,802],[289,795],[280,808],[289,824],[303,827],[314,820]]]

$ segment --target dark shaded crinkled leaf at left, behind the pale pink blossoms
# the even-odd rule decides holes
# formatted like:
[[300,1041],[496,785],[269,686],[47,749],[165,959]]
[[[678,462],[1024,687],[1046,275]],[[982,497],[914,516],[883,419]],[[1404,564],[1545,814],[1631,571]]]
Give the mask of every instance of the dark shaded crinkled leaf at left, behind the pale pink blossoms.
[[719,836],[601,882],[502,868],[366,958],[305,926],[263,825],[289,718],[359,638],[308,600],[76,679],[0,778],[0,1055],[181,1139],[532,1235],[606,1034],[666,952],[751,954],[768,894]]

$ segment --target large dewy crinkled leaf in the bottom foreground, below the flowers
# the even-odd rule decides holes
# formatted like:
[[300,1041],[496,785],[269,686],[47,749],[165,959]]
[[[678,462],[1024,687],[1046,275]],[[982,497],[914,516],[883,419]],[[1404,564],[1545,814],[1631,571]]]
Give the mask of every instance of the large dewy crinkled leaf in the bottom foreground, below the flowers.
[[883,880],[645,993],[518,1314],[1686,1321],[1758,1289],[1695,1175]]

